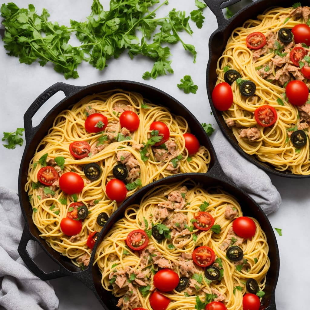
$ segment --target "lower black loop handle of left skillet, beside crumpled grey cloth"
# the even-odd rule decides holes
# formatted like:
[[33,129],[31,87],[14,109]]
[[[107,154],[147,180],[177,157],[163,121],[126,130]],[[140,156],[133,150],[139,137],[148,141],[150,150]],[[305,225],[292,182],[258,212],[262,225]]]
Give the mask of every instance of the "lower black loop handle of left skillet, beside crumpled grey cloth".
[[[39,277],[41,280],[47,281],[47,280],[71,275],[71,273],[61,265],[59,265],[60,267],[59,270],[55,270],[55,271],[48,272],[48,273],[44,272],[33,261],[33,259],[31,258],[31,256],[29,255],[26,249],[26,246],[29,240],[37,241],[37,239],[31,235],[31,233],[29,232],[29,229],[25,226],[17,250],[18,250],[20,257],[23,259],[24,263],[37,277]],[[41,246],[40,242],[38,242],[38,244]]]

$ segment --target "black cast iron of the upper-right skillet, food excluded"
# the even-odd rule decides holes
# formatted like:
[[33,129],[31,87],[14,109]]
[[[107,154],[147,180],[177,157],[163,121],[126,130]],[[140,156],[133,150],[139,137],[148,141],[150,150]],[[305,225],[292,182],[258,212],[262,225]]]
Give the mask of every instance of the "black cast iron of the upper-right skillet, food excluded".
[[[265,170],[266,172],[272,173],[274,175],[290,177],[290,178],[309,178],[310,175],[295,175],[290,171],[278,171],[274,166],[261,162],[254,155],[249,155],[245,153],[242,148],[238,145],[237,139],[232,134],[232,131],[226,125],[221,112],[216,110],[212,104],[211,94],[215,87],[217,80],[216,74],[216,64],[219,57],[222,55],[228,38],[230,37],[233,29],[241,26],[248,19],[256,19],[258,14],[263,13],[266,9],[270,7],[291,7],[294,1],[291,0],[257,0],[250,3],[238,11],[234,16],[229,19],[224,17],[222,9],[240,2],[240,0],[204,0],[210,10],[215,14],[218,29],[211,34],[209,39],[209,61],[206,71],[206,86],[208,92],[208,98],[213,115],[218,123],[223,134],[232,144],[232,146],[244,157],[246,157],[250,162],[258,166],[259,168]],[[301,5],[308,5],[307,1],[299,1]]]

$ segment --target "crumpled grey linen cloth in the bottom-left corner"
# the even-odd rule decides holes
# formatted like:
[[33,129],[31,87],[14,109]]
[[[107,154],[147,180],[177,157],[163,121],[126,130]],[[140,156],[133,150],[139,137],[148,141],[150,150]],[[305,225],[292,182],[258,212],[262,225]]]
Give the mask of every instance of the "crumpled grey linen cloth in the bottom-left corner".
[[[0,214],[0,309],[57,309],[59,301],[53,287],[36,277],[17,252],[24,217],[17,194],[1,186]],[[38,254],[34,243],[29,242],[27,250],[31,257]]]

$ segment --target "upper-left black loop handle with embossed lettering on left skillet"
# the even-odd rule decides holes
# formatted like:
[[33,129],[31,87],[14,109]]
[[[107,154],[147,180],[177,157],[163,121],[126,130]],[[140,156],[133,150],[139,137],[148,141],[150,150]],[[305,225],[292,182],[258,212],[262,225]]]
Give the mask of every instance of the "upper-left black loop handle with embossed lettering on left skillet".
[[43,91],[41,95],[38,96],[36,100],[33,101],[33,103],[30,105],[30,107],[27,109],[27,111],[24,114],[24,127],[25,127],[25,139],[26,142],[28,142],[27,137],[32,137],[34,133],[38,130],[40,125],[33,127],[32,126],[32,117],[35,113],[38,112],[39,108],[42,107],[42,105],[50,99],[53,95],[55,95],[58,91],[63,91],[66,97],[73,95],[78,90],[80,90],[80,86],[74,86],[65,84],[62,82],[55,83],[51,87],[49,87],[47,90]]

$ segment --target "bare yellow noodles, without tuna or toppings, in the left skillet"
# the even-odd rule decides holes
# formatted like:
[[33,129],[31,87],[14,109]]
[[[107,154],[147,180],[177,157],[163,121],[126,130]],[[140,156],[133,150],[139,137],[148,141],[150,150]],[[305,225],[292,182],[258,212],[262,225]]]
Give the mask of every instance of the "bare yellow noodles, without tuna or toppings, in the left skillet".
[[[88,133],[84,128],[86,119],[86,107],[95,109],[96,112],[104,114],[108,118],[108,122],[119,122],[120,113],[115,112],[113,107],[116,105],[130,105],[139,115],[139,128],[131,133],[131,139],[117,142],[107,143],[107,146],[100,152],[90,155],[82,159],[75,159],[69,152],[69,144],[74,141],[87,141],[90,146],[96,145],[102,133]],[[146,107],[145,107],[146,106]],[[158,162],[154,159],[151,147],[148,147],[150,153],[149,159],[143,161],[138,149],[133,148],[132,143],[146,143],[150,131],[148,130],[154,121],[164,122],[170,130],[170,140],[175,141],[176,148],[180,154],[183,154],[179,160],[180,167],[177,172],[207,172],[210,163],[210,153],[205,147],[201,147],[199,152],[191,156],[188,161],[188,154],[184,149],[183,134],[189,131],[188,123],[183,117],[172,114],[167,108],[158,106],[143,98],[142,95],[130,91],[113,90],[105,91],[99,94],[89,95],[72,108],[64,110],[53,122],[53,126],[48,134],[40,141],[36,152],[29,164],[28,182],[25,185],[25,191],[31,197],[33,206],[33,222],[40,231],[40,236],[56,251],[63,253],[70,259],[80,257],[83,254],[91,254],[91,250],[87,247],[87,236],[90,232],[100,231],[101,226],[96,223],[97,216],[101,212],[111,215],[117,209],[117,203],[111,201],[105,195],[105,185],[110,179],[113,179],[113,166],[117,164],[117,151],[129,151],[139,162],[141,170],[140,180],[142,186],[161,179],[162,177],[173,175],[175,172],[166,170],[170,160]],[[119,130],[120,130],[119,126]],[[116,133],[117,134],[117,133]],[[60,230],[60,221],[67,216],[69,205],[74,201],[74,196],[67,195],[55,188],[55,195],[47,197],[41,195],[38,188],[33,188],[33,184],[38,182],[38,171],[41,169],[39,159],[48,154],[49,158],[64,157],[64,169],[60,174],[68,171],[75,171],[84,179],[84,188],[81,193],[76,195],[78,202],[85,204],[90,213],[86,219],[82,221],[83,228],[79,233],[78,239],[70,241],[70,237],[64,235]],[[84,173],[83,166],[96,162],[100,165],[102,174],[99,179],[89,181]],[[41,187],[43,185],[41,184]],[[127,197],[134,193],[137,188],[129,190]],[[66,199],[66,203],[60,201]],[[92,201],[99,201],[92,205]],[[56,213],[55,213],[56,212]],[[77,263],[76,263],[77,264]]]

